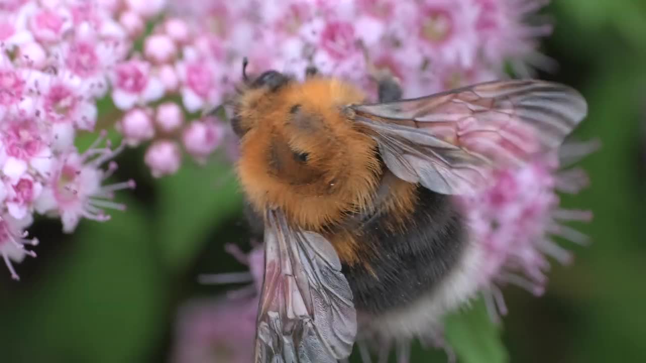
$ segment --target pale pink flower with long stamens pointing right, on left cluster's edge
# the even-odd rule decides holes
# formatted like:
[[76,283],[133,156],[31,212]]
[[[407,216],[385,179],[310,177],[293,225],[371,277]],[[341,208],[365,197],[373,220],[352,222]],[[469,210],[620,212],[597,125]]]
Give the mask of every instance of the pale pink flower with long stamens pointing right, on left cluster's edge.
[[123,147],[111,150],[99,148],[103,141],[101,136],[83,154],[76,149],[59,156],[52,168],[41,196],[36,200],[38,213],[61,216],[63,231],[71,233],[81,218],[103,222],[109,220],[103,208],[125,209],[125,205],[110,201],[114,191],[134,188],[134,182],[101,185],[112,175],[116,163],[109,164],[107,169],[99,169],[101,164],[114,158]]

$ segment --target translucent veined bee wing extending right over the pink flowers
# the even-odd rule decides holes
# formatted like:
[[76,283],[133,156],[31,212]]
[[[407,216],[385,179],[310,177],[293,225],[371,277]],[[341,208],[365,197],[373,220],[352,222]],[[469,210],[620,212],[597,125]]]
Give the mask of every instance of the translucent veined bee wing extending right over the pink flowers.
[[393,174],[443,194],[472,192],[493,169],[556,149],[587,114],[576,90],[538,80],[480,83],[350,109],[371,130]]

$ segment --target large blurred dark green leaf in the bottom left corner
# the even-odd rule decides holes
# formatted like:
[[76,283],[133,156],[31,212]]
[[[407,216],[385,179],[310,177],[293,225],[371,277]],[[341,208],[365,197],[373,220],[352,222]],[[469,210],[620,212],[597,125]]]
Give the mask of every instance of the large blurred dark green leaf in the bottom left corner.
[[166,284],[151,223],[127,203],[109,222],[81,222],[58,258],[39,257],[51,258],[39,280],[1,303],[3,362],[140,362],[155,349]]

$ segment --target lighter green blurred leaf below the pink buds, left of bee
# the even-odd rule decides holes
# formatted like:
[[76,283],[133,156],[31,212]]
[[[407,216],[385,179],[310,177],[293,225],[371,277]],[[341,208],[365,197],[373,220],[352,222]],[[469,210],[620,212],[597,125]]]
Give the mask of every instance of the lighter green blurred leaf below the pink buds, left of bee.
[[[180,172],[158,181],[156,236],[165,263],[182,271],[222,220],[242,209],[231,165],[211,162],[205,167],[187,163]],[[228,241],[213,241],[224,244]]]

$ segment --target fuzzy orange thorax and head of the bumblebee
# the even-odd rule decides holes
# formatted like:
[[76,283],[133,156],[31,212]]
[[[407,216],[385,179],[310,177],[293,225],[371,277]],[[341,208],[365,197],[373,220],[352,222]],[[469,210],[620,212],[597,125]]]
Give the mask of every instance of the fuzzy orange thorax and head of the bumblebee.
[[319,76],[298,83],[269,70],[249,81],[234,130],[242,138],[238,174],[256,209],[281,207],[317,228],[366,204],[377,184],[376,145],[344,112],[363,99]]

